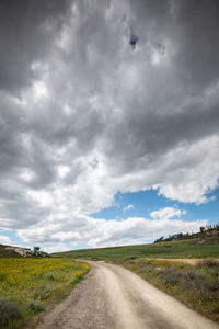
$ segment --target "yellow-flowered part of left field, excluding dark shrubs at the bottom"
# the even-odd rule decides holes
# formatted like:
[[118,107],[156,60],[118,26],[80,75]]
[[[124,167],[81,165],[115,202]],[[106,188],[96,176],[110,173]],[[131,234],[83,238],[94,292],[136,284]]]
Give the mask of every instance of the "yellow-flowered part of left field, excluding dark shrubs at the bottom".
[[1,298],[25,308],[31,300],[47,305],[65,296],[90,270],[71,259],[0,259]]

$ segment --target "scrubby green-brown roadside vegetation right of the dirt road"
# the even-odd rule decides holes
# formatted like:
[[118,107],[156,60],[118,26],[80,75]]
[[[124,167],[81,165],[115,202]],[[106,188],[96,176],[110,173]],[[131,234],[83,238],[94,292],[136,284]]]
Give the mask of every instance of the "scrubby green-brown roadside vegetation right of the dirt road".
[[189,308],[219,322],[219,262],[183,262],[126,257],[114,260],[158,288],[174,296]]

